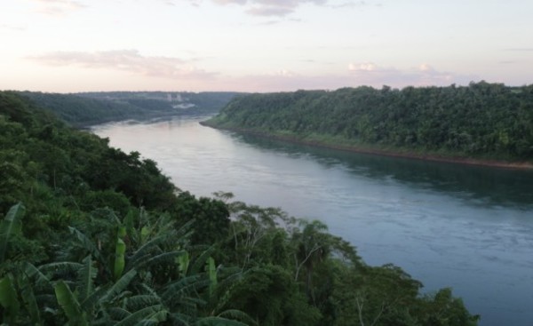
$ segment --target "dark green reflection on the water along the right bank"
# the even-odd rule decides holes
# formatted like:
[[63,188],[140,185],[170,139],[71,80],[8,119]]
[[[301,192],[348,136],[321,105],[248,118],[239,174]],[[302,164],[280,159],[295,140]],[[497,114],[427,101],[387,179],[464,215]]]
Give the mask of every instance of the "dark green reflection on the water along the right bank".
[[325,168],[338,167],[340,164],[351,173],[372,179],[392,178],[410,187],[446,193],[473,204],[480,202],[483,205],[512,206],[523,210],[533,208],[533,171],[356,154],[248,134],[234,134],[234,137],[251,146],[289,153],[292,157],[310,155]]

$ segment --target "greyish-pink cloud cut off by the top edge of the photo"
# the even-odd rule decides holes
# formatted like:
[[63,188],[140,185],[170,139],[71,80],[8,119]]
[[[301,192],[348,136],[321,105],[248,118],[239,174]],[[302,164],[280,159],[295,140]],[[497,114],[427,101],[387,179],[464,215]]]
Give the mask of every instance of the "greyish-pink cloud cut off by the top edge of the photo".
[[[186,0],[191,4],[198,5],[202,1],[214,4],[236,4],[245,7],[245,12],[254,16],[286,16],[296,12],[303,4],[326,5],[333,0]],[[365,1],[347,1],[342,4],[330,4],[331,8],[346,8],[348,6],[367,5]]]

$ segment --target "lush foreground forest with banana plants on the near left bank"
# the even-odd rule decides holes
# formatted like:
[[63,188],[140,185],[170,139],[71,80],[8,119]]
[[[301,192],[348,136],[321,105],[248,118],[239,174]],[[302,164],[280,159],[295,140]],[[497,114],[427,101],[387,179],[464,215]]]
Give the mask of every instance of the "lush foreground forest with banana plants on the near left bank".
[[0,92],[5,325],[477,324],[318,221],[197,198],[34,103]]

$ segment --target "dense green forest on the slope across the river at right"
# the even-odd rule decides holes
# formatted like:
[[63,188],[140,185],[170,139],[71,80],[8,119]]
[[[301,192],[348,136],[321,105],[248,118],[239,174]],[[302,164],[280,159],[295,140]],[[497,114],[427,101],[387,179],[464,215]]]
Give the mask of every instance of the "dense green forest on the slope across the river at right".
[[205,124],[383,153],[533,162],[533,85],[250,94]]

